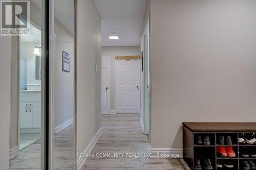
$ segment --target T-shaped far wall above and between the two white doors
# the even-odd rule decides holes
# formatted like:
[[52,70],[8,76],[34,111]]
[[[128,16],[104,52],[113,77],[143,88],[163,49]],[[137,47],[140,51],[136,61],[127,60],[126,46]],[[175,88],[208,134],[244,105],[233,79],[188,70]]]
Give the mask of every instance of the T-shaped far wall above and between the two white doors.
[[110,57],[110,110],[115,110],[115,56],[140,55],[140,46],[102,46],[101,55]]

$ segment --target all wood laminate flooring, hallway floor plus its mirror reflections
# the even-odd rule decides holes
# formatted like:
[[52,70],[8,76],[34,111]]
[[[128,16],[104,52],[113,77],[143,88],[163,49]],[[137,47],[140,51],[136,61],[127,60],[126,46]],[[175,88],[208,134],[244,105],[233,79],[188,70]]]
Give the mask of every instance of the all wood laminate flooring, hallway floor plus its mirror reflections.
[[[102,115],[103,133],[92,153],[120,153],[124,157],[89,157],[83,170],[167,170],[185,169],[179,159],[127,157],[126,153],[149,153],[150,144],[143,135],[139,114]],[[54,169],[70,170],[73,162],[73,124],[54,135]],[[112,155],[113,156],[113,155]],[[138,155],[137,155],[138,156]],[[10,161],[10,169],[40,169],[40,141]]]

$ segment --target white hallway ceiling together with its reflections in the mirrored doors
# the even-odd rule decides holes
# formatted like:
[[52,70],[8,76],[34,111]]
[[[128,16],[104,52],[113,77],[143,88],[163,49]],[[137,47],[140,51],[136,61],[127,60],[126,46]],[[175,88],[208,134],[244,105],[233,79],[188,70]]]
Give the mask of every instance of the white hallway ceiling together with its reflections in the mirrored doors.
[[[41,0],[31,0],[41,8]],[[139,46],[147,0],[93,0],[101,21],[102,46]],[[74,32],[74,1],[54,0],[55,18],[71,33]],[[119,40],[110,40],[116,32]]]

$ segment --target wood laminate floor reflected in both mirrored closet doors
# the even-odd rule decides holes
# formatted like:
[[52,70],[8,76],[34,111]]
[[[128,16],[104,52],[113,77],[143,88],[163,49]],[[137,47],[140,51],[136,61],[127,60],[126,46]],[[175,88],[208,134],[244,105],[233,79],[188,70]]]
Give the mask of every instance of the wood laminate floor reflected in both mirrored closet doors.
[[[74,124],[54,135],[53,169],[70,170],[74,161]],[[41,158],[40,140],[30,145],[10,160],[10,170],[39,170]]]

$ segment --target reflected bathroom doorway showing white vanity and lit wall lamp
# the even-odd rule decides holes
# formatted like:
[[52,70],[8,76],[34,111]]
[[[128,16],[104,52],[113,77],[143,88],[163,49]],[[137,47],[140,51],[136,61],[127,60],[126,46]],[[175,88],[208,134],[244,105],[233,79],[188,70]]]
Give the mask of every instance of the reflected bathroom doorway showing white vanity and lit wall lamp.
[[20,36],[19,151],[41,138],[41,30],[30,23],[30,36]]

